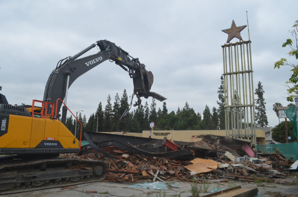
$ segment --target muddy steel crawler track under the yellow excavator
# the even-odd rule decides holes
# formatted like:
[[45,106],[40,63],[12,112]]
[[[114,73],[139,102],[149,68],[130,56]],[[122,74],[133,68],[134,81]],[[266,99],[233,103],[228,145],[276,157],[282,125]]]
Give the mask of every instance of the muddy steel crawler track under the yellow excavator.
[[99,182],[107,168],[98,160],[0,157],[0,195]]

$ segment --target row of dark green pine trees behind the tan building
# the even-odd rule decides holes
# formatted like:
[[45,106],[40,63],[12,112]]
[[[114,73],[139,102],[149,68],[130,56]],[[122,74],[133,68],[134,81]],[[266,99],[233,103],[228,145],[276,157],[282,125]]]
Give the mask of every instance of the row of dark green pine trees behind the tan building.
[[[260,82],[259,82],[260,83]],[[82,133],[88,132],[115,132],[129,131],[142,132],[149,130],[150,122],[155,122],[154,130],[216,130],[225,129],[225,112],[224,112],[224,81],[221,76],[221,85],[218,88],[217,101],[218,109],[210,108],[206,105],[205,110],[201,113],[196,113],[193,108],[186,102],[184,107],[177,111],[168,112],[166,102],[163,102],[162,109],[156,109],[156,101],[153,98],[150,105],[146,101],[145,104],[139,105],[133,111],[120,119],[125,110],[128,109],[128,96],[124,90],[121,98],[117,93],[112,104],[111,96],[108,95],[107,104],[104,109],[102,103],[98,104],[95,113],[91,114],[87,120],[86,116],[82,117],[78,114],[78,119],[82,123]],[[256,89],[257,92],[257,89]],[[263,93],[263,91],[262,91]],[[263,94],[262,94],[263,98]],[[257,99],[256,99],[257,100]],[[265,105],[262,107],[264,113]],[[265,112],[266,116],[266,112]],[[98,119],[98,121],[97,121]],[[266,117],[267,120],[267,117]],[[66,127],[75,132],[75,118],[70,116],[66,120]],[[98,123],[98,124],[97,124]],[[268,124],[268,121],[267,121]],[[262,126],[262,125],[261,125]],[[265,125],[266,126],[266,125]],[[79,136],[80,124],[77,124],[77,134]]]

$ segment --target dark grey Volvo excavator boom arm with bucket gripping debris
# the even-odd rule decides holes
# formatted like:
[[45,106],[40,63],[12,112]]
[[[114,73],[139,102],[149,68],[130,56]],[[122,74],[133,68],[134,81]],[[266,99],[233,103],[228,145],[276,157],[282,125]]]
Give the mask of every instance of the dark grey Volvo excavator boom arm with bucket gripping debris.
[[[100,48],[98,53],[77,59],[95,46]],[[64,100],[64,98],[67,98],[69,87],[79,76],[105,60],[112,60],[125,71],[128,71],[129,76],[133,78],[134,93],[138,98],[138,104],[141,101],[140,97],[148,98],[148,96],[152,96],[159,101],[166,99],[157,93],[150,92],[153,84],[153,74],[150,71],[146,71],[145,65],[141,64],[138,58],[132,58],[128,52],[116,46],[115,43],[108,40],[99,40],[96,44],[93,43],[83,51],[68,57],[63,63],[61,61],[60,65],[57,65],[46,83],[43,100],[52,103],[56,103],[58,98]],[[58,112],[61,105],[60,103],[57,106]],[[62,115],[63,123],[65,118],[66,113]]]

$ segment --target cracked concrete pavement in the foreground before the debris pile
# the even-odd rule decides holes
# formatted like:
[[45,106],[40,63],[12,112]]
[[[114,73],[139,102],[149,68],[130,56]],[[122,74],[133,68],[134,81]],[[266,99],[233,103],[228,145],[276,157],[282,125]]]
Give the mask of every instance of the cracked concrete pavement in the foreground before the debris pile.
[[[177,179],[175,179],[177,180]],[[189,197],[192,196],[191,188],[193,183],[185,181],[175,181],[172,184],[164,182],[97,182],[91,184],[77,185],[77,187],[61,190],[60,188],[32,191],[27,193],[18,193],[4,195],[7,197]],[[257,187],[261,197],[294,197],[298,196],[298,185],[295,178],[288,179],[285,183],[261,183],[257,186],[254,182],[218,182],[211,183],[206,192],[204,186],[208,184],[198,184],[201,187],[200,196],[211,192],[212,190],[227,189],[240,185],[242,188]],[[260,183],[259,183],[260,185]],[[97,193],[87,193],[86,191],[96,191]]]

